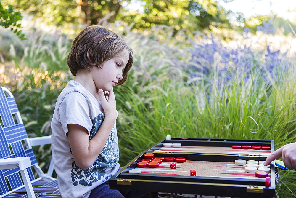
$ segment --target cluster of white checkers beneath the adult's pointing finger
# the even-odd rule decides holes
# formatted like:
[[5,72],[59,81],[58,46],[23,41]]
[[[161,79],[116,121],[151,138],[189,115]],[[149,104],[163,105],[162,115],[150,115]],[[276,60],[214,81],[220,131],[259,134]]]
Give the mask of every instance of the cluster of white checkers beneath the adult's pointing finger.
[[[266,172],[267,175],[268,173],[270,173],[270,165],[264,166],[263,163],[265,161],[255,161],[255,160],[243,160],[243,159],[237,159],[234,161],[235,165],[239,165],[239,166],[246,166],[244,167],[244,171],[246,171],[247,173],[257,173],[256,176],[260,177],[260,173],[259,171],[263,171]],[[264,173],[264,175],[266,175],[266,173]],[[262,175],[263,176],[263,175]]]

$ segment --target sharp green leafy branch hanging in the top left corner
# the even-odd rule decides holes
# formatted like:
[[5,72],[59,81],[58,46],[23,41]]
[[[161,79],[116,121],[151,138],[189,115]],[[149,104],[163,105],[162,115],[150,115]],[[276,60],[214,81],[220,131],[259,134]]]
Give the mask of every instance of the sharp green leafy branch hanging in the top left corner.
[[0,25],[4,28],[10,28],[10,31],[15,33],[21,40],[26,40],[25,34],[22,34],[21,30],[18,30],[18,28],[21,28],[20,24],[17,24],[18,21],[22,20],[22,15],[20,12],[15,12],[12,5],[7,5],[8,9],[5,9],[2,6],[2,3],[0,1]]

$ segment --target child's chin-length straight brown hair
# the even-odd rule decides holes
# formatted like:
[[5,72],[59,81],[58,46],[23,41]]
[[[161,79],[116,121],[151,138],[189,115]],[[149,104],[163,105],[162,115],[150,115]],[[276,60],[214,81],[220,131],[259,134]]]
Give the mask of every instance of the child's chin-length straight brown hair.
[[[84,28],[74,39],[67,64],[71,73],[76,76],[77,70],[89,69],[102,65],[125,52],[129,53],[128,63],[122,72],[122,80],[116,85],[122,85],[128,78],[128,71],[133,64],[133,51],[115,32],[98,25]],[[89,56],[87,55],[89,51]]]

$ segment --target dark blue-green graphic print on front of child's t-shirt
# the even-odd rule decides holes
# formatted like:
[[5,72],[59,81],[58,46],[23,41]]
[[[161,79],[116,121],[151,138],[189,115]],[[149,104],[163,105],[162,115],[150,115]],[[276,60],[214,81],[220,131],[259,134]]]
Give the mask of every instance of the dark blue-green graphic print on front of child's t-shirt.
[[[96,135],[96,132],[102,125],[104,117],[104,114],[99,114],[92,120],[93,126],[90,131],[89,139],[93,138],[94,135]],[[115,141],[114,133],[115,125],[112,127],[112,130],[103,150],[88,169],[82,170],[81,168],[79,168],[74,162],[72,156],[71,176],[74,186],[91,186],[97,181],[101,181],[102,183],[104,183],[112,177],[112,175],[106,174],[106,172],[112,169],[112,167],[115,167],[119,161],[119,151],[117,149],[118,143]]]

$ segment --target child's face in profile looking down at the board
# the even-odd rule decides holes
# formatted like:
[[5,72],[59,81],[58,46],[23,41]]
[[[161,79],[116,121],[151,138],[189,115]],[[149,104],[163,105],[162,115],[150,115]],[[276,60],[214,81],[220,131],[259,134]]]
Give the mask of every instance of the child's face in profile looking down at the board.
[[91,77],[96,89],[110,91],[115,84],[122,79],[122,70],[126,67],[129,60],[129,53],[125,50],[117,57],[106,61],[100,68],[91,68]]

